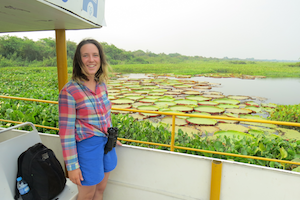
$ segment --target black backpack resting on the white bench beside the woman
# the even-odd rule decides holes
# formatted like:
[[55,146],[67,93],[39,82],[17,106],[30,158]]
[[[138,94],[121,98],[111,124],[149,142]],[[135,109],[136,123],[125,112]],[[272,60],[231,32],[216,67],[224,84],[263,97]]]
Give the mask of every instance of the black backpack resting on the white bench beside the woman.
[[[53,151],[42,143],[35,144],[19,156],[17,177],[22,177],[29,185],[30,191],[22,196],[23,200],[51,200],[66,185],[60,162]],[[19,196],[16,186],[15,200]]]

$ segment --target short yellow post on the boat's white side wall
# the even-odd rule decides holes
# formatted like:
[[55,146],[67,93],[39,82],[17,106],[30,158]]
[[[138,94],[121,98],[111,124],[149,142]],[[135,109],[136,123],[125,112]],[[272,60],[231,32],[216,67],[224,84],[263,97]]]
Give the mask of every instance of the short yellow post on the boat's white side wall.
[[222,162],[213,161],[211,164],[210,200],[220,200]]

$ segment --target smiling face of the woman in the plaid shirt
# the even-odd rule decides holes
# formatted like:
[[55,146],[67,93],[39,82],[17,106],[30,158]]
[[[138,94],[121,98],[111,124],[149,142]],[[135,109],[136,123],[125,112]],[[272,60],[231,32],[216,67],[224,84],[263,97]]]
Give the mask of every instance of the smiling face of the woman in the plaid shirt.
[[94,44],[85,44],[80,49],[83,70],[90,78],[94,78],[100,68],[101,60],[99,50]]

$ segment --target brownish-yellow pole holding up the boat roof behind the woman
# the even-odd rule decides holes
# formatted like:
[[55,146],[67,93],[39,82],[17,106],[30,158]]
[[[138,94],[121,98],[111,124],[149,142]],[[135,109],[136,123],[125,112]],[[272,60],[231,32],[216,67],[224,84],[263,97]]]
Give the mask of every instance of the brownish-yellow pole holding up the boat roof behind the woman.
[[57,29],[55,30],[55,36],[58,89],[60,91],[68,82],[66,31],[64,29]]

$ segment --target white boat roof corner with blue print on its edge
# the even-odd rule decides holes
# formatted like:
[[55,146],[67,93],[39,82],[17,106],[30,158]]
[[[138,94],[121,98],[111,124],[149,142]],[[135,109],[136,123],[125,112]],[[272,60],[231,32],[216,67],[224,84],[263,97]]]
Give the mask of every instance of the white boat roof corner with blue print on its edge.
[[104,0],[1,0],[2,33],[90,29],[103,25]]

